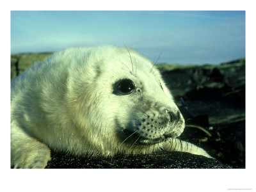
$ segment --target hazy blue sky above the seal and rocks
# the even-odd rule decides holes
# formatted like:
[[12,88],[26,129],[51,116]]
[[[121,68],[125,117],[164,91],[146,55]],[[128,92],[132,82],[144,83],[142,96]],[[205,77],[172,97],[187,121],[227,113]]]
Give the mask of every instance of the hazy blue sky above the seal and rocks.
[[244,11],[11,12],[11,53],[111,44],[157,63],[218,64],[245,57]]

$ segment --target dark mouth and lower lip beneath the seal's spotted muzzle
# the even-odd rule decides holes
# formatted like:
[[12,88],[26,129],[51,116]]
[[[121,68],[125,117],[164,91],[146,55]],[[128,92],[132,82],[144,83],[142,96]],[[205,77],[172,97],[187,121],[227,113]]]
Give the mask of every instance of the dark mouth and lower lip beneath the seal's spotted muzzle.
[[137,132],[133,132],[128,129],[124,129],[124,134],[127,136],[127,138],[125,138],[126,141],[131,142],[131,143],[141,144],[141,145],[153,145],[156,143],[161,143],[164,140],[166,140],[167,138],[172,137],[172,136],[163,134],[159,138],[148,139],[148,138],[141,136]]

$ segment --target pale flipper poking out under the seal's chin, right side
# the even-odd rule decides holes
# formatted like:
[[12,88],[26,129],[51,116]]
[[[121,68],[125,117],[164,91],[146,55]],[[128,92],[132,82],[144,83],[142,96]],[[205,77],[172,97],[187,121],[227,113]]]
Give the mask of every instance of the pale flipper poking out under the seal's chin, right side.
[[[188,143],[186,141],[179,140],[177,138],[168,138],[163,143],[163,150],[165,151],[179,151],[179,152],[189,152],[191,154],[205,156],[208,158],[213,158],[204,149]],[[214,159],[214,158],[213,158]]]

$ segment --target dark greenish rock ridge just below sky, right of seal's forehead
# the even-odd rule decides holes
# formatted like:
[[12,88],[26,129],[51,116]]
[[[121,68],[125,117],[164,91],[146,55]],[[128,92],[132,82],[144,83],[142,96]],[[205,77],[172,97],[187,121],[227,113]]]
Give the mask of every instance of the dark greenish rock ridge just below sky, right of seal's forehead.
[[226,92],[227,88],[235,89],[245,84],[245,60],[232,64],[175,67],[165,71],[162,69],[162,74],[175,97],[202,88],[225,89]]

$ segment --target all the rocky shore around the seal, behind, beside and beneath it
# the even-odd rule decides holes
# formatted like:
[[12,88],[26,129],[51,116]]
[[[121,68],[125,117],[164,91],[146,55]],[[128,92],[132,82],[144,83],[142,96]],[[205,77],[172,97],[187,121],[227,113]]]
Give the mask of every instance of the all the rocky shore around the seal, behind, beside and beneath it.
[[[13,54],[11,79],[51,54]],[[52,151],[47,168],[245,168],[245,59],[157,67],[186,118],[180,138],[216,159],[180,152],[95,158]]]

